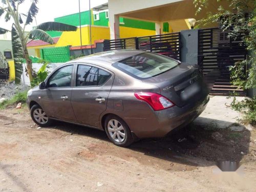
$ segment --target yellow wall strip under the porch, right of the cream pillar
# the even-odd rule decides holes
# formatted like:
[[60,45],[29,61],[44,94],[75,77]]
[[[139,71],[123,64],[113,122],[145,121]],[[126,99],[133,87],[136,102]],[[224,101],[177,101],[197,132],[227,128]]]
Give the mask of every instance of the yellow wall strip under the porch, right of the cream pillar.
[[130,28],[130,27],[119,27],[119,30],[120,30],[120,38],[141,37],[141,36],[156,34],[156,31],[147,30],[147,29],[136,29],[136,28]]

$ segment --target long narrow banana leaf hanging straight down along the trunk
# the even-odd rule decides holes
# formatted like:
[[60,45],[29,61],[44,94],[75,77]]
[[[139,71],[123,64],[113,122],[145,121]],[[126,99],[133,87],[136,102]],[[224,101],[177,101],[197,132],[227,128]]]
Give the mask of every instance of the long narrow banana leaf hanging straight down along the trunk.
[[20,83],[20,79],[23,73],[23,49],[20,44],[17,30],[12,26],[12,52],[15,67],[15,83]]

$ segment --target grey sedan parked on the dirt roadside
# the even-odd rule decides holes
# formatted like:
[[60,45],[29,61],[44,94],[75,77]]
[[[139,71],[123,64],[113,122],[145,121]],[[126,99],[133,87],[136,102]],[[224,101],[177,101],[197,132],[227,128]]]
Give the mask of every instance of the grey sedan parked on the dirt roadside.
[[118,146],[164,137],[197,118],[208,100],[197,65],[139,50],[69,61],[28,92],[39,126],[59,120],[92,127]]

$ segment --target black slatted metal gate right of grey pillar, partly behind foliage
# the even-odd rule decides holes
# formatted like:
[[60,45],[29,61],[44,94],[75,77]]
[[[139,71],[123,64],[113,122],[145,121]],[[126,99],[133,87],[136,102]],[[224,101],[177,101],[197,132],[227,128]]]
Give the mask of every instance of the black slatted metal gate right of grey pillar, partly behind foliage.
[[228,31],[220,28],[200,29],[198,37],[198,61],[204,74],[213,69],[219,69],[221,76],[215,81],[211,94],[227,95],[236,91],[244,95],[230,84],[229,67],[235,62],[246,59],[246,47],[241,38],[231,39]]

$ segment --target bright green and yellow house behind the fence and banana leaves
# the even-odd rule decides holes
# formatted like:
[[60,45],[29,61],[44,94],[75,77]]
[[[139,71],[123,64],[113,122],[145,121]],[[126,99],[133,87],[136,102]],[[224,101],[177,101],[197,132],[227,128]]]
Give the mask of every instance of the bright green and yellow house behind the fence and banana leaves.
[[[91,10],[91,24],[90,11],[81,12],[80,16],[81,27],[79,13],[55,18],[55,22],[77,26],[77,31],[48,32],[54,39],[53,45],[41,40],[29,41],[27,44],[28,50],[30,53],[34,52],[31,55],[48,59],[51,62],[66,62],[70,56],[80,55],[81,50],[83,55],[91,54],[91,48],[92,53],[101,52],[103,50],[103,40],[110,39],[109,10]],[[119,25],[122,38],[156,34],[155,23],[153,22],[120,17]],[[164,32],[169,32],[168,24],[165,24]]]

